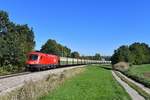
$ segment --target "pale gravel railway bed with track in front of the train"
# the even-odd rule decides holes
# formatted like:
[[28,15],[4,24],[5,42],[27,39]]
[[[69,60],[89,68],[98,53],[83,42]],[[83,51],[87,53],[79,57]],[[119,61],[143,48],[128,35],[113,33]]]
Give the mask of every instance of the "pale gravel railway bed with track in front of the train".
[[77,67],[85,67],[85,65],[62,67],[51,70],[39,71],[39,72],[23,72],[11,75],[0,76],[0,95],[5,95],[12,90],[22,87],[25,82],[39,81],[51,74],[59,74],[64,70],[69,70]]

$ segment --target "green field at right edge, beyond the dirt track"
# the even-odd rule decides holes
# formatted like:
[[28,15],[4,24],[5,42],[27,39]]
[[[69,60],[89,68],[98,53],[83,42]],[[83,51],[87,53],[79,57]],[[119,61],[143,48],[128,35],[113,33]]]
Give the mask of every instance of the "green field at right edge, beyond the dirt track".
[[124,72],[128,77],[150,87],[150,64],[134,65]]

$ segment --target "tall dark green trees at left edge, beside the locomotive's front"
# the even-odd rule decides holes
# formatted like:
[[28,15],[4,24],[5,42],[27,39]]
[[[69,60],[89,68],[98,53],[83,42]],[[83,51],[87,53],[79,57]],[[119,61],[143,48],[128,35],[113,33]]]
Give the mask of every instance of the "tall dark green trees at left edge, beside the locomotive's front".
[[32,51],[35,45],[34,32],[28,25],[11,22],[4,11],[0,11],[0,18],[7,27],[7,32],[0,36],[0,66],[24,67],[26,54]]

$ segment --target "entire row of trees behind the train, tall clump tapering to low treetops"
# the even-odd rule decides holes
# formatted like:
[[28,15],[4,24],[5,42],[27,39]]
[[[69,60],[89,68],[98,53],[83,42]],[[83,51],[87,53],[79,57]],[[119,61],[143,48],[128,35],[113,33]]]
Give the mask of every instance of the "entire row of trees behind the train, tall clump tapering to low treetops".
[[91,60],[101,60],[99,53],[94,56],[81,56],[77,51],[71,51],[67,46],[57,43],[55,40],[48,39],[47,42],[41,47],[40,52],[47,54],[54,54],[62,57],[72,57],[72,58],[83,58]]

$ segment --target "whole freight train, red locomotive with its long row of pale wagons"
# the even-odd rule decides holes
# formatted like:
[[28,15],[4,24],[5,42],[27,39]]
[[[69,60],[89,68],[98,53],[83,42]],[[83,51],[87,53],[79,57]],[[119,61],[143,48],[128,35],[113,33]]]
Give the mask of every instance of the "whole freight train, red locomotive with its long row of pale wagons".
[[68,57],[59,57],[52,54],[45,54],[41,52],[30,52],[28,60],[26,61],[26,68],[30,71],[33,70],[46,70],[50,68],[85,65],[85,64],[103,64],[111,63],[110,61],[87,60]]

